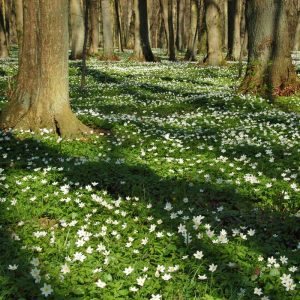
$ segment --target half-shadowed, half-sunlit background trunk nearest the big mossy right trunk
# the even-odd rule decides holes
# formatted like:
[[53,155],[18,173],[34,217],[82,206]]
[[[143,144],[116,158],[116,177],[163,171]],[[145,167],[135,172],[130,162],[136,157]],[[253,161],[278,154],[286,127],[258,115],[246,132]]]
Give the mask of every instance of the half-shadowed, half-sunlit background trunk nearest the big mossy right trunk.
[[229,4],[229,38],[228,38],[228,59],[239,60],[242,41],[241,41],[241,25],[242,15],[244,13],[243,0],[233,0]]

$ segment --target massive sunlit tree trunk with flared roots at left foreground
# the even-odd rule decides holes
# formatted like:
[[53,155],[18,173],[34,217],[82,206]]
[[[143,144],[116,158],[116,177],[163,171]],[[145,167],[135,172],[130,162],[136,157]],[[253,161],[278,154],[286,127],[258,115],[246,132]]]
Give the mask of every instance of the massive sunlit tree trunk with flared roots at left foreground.
[[17,87],[1,127],[47,128],[63,137],[88,132],[69,104],[68,1],[24,0],[23,34]]

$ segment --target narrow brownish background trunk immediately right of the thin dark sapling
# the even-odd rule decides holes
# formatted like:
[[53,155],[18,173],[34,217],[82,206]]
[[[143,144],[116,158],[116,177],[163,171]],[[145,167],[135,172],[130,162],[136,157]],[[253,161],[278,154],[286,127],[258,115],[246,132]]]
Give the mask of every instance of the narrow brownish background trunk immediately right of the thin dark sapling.
[[98,0],[90,0],[90,47],[89,54],[98,54],[99,47],[99,5]]

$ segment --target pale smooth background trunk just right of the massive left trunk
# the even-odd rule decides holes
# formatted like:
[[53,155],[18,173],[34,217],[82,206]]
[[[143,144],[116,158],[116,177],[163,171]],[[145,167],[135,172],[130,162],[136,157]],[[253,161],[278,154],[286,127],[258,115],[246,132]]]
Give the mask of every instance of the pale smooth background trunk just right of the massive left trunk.
[[[64,1],[64,0],[62,0]],[[70,59],[81,59],[84,43],[84,17],[80,0],[70,0],[71,17],[71,56]]]

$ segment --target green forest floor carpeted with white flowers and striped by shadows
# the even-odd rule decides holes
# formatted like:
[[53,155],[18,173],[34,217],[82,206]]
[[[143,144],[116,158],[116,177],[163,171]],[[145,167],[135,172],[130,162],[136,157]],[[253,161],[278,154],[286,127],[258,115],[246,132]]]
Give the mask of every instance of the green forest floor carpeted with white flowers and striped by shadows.
[[300,101],[237,73],[90,59],[81,90],[71,63],[109,134],[0,132],[0,299],[300,299]]

